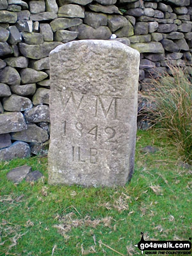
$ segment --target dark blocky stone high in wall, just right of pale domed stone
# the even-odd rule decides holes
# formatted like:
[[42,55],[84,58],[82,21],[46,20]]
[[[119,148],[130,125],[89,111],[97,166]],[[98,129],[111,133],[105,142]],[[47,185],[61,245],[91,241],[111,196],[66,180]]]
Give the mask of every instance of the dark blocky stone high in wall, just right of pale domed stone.
[[108,17],[106,14],[84,12],[84,23],[93,28],[107,26]]

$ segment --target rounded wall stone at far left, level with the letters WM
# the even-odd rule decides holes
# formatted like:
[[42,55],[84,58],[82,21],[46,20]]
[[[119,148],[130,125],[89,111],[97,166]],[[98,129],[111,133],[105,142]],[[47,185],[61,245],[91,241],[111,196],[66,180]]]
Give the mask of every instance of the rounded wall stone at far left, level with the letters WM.
[[24,111],[32,108],[32,102],[26,97],[12,94],[9,98],[3,98],[3,109],[7,111]]

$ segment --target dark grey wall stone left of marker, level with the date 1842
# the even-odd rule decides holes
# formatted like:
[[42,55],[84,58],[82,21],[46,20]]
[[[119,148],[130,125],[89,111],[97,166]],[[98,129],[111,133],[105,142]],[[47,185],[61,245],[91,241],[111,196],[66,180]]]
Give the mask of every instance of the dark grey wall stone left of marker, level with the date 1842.
[[20,132],[11,133],[11,140],[21,140],[24,142],[43,143],[48,140],[47,131],[41,129],[34,123],[27,124],[27,129]]

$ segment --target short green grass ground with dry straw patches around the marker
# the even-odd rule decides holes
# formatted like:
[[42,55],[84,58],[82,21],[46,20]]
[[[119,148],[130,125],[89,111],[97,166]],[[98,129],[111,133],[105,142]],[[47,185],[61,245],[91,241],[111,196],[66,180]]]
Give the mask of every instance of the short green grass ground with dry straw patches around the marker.
[[[142,152],[147,145],[159,150]],[[24,164],[44,179],[7,181]],[[148,240],[192,236],[192,170],[155,130],[138,131],[135,174],[125,187],[51,186],[46,157],[1,162],[0,170],[0,256],[135,256],[141,231]]]

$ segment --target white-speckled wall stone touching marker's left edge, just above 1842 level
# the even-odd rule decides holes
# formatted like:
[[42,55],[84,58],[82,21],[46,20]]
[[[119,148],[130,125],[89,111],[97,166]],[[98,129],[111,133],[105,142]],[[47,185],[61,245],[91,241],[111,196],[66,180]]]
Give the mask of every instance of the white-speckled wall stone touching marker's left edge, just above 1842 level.
[[27,123],[50,122],[49,107],[46,105],[39,105],[26,110],[24,117]]

